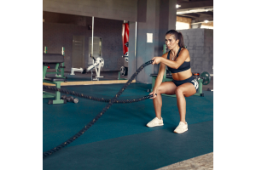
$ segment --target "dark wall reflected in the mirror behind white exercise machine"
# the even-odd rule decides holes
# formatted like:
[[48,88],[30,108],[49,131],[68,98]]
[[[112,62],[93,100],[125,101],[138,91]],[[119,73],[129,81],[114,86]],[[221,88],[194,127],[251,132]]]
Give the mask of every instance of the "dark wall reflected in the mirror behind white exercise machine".
[[[91,24],[91,17],[85,17],[85,22]],[[102,71],[119,71],[124,64],[121,58],[122,47],[122,24],[123,20],[107,20],[95,18],[94,37],[102,37],[102,57],[104,66]],[[85,37],[85,65],[89,56],[89,37],[91,30],[88,26],[73,24],[43,23],[43,53],[44,46],[48,47],[47,53],[61,54],[61,47],[65,47],[65,71],[71,70],[72,42],[74,36]]]

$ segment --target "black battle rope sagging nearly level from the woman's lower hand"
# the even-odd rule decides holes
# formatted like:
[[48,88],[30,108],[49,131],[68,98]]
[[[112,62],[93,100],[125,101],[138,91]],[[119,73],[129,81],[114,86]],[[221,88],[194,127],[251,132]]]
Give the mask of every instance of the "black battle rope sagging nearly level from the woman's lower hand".
[[[107,102],[107,103],[110,102],[110,100],[111,100],[111,99],[104,99],[104,98],[96,98],[96,97],[88,96],[88,95],[85,95],[85,94],[79,94],[79,93],[76,93],[76,92],[71,91],[71,90],[49,87],[49,86],[44,86],[44,85],[43,85],[43,89],[48,89],[48,90],[51,90],[51,91],[58,91],[58,92],[61,92],[61,93],[64,93],[64,94],[73,94],[73,95],[79,96],[81,98],[92,99],[92,100],[102,101],[102,102]],[[147,95],[147,96],[143,96],[142,98],[137,98],[137,99],[117,99],[113,103],[115,103],[115,104],[133,103],[133,102],[143,101],[144,99],[149,99],[152,96],[153,95]]]

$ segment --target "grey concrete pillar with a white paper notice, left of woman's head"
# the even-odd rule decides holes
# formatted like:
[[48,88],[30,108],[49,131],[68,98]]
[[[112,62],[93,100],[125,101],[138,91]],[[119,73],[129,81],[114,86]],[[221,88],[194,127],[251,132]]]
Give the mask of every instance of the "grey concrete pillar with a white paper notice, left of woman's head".
[[[166,32],[176,29],[177,0],[137,1],[137,51],[135,56],[136,23],[130,22],[128,78],[154,56],[161,56]],[[147,42],[147,33],[153,34],[153,42]],[[131,46],[130,46],[131,45]],[[136,65],[136,66],[135,66]],[[148,65],[137,77],[137,82],[151,83],[151,73],[158,73],[159,65]]]

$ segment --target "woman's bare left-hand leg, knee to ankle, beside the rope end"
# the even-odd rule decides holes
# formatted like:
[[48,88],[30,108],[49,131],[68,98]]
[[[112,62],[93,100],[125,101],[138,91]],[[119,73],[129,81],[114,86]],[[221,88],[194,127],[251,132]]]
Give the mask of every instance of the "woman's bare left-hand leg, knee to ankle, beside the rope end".
[[175,94],[177,86],[174,82],[162,82],[160,87],[157,88],[157,96],[153,99],[155,116],[161,119],[162,96],[160,94]]

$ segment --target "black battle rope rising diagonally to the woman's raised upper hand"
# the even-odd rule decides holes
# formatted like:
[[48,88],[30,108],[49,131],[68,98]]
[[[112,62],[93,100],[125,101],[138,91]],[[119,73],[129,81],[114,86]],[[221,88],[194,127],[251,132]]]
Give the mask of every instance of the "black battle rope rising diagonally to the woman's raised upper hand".
[[[56,146],[55,148],[49,150],[49,151],[46,151],[43,153],[43,158],[46,157],[46,156],[50,156],[51,154],[55,153],[56,151],[58,150],[61,150],[62,148],[64,148],[65,146],[67,146],[67,144],[71,144],[75,139],[78,139],[82,134],[84,134],[84,132],[86,130],[88,130],[108,109],[111,105],[113,105],[113,103],[119,98],[119,95],[121,95],[125,88],[128,87],[128,85],[131,83],[131,81],[137,76],[137,74],[143,70],[143,68],[147,65],[150,65],[153,63],[153,60],[150,60],[146,63],[144,63],[143,65],[141,65],[137,71],[135,73],[133,73],[133,75],[131,76],[131,78],[125,83],[125,85],[123,86],[123,88],[121,88],[119,90],[119,92],[113,97],[113,99],[111,99],[108,103],[108,105],[106,105],[102,111],[92,120],[90,121],[85,127],[83,127],[79,133],[76,133],[75,135],[73,135],[73,137],[71,137],[70,139],[67,139],[66,142],[62,143],[62,144],[59,144],[58,146]],[[43,86],[44,87],[44,86]],[[60,88],[58,88],[58,90],[60,90]],[[149,97],[152,97],[151,95]]]

